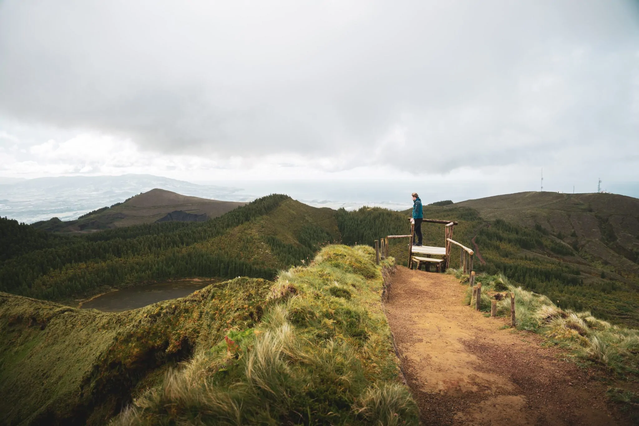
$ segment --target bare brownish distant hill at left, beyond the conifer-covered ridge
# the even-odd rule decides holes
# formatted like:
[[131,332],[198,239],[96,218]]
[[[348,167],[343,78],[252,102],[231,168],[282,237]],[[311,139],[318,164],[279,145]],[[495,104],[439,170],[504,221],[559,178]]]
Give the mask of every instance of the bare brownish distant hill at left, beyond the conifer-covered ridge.
[[152,189],[125,202],[97,209],[77,220],[52,218],[31,226],[50,232],[93,232],[101,229],[150,224],[164,220],[197,221],[215,218],[245,205],[245,202],[218,201]]

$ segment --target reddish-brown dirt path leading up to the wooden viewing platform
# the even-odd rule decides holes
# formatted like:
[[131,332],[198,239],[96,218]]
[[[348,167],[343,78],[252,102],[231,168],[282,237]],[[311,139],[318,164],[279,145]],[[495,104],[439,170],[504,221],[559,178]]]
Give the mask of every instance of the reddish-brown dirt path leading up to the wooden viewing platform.
[[502,319],[462,305],[451,275],[398,267],[385,304],[424,425],[622,425],[606,386],[541,347],[500,330]]

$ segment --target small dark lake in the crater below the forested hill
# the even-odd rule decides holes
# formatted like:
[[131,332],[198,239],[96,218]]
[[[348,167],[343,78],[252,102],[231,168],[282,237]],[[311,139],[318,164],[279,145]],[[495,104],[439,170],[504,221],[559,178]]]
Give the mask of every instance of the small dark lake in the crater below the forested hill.
[[82,308],[97,309],[102,312],[122,312],[123,310],[141,308],[162,300],[182,298],[213,282],[215,281],[173,281],[130,287],[102,294],[82,303]]

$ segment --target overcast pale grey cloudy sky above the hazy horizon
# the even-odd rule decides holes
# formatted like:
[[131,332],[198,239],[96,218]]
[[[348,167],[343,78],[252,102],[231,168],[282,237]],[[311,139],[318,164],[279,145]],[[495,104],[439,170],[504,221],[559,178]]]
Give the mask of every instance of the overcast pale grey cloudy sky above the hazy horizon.
[[637,1],[0,2],[0,177],[590,192],[638,139]]

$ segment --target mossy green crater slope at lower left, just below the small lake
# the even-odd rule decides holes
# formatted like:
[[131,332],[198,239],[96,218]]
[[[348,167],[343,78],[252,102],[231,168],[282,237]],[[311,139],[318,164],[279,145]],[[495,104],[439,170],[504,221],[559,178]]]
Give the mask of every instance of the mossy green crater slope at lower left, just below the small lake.
[[3,422],[103,424],[155,369],[221,339],[230,323],[251,326],[269,287],[236,278],[116,314],[0,293]]

